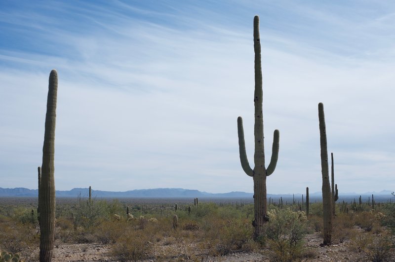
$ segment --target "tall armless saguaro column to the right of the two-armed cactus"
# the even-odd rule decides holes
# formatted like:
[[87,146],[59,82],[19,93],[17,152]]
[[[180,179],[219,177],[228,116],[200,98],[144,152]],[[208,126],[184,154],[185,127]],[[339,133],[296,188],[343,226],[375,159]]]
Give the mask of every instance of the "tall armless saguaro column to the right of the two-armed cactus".
[[322,208],[323,208],[323,235],[324,245],[332,243],[332,196],[329,183],[328,150],[326,143],[326,126],[324,105],[318,104],[319,137],[321,146],[321,172],[322,172]]

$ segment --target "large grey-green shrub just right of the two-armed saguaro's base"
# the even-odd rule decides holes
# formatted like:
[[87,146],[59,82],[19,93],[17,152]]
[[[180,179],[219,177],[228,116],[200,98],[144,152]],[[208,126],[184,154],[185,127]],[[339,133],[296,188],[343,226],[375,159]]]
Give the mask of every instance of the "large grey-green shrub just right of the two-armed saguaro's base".
[[265,224],[265,242],[271,261],[295,261],[303,255],[303,238],[308,233],[307,217],[289,208],[270,210]]

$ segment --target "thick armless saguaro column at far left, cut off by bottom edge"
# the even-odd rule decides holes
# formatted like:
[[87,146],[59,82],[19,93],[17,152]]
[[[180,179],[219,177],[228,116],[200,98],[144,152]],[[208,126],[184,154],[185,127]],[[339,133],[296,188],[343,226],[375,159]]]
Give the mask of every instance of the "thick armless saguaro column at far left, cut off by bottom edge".
[[55,241],[55,121],[58,74],[52,70],[49,75],[48,98],[46,104],[44,145],[42,147],[41,180],[39,191],[40,206],[40,262],[52,260]]

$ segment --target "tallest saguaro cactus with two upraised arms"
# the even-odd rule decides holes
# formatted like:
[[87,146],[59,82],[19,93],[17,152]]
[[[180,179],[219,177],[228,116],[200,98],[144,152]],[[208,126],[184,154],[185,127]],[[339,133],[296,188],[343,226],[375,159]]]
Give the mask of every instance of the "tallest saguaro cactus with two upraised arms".
[[240,162],[244,172],[252,176],[254,180],[254,239],[259,239],[263,234],[263,225],[268,221],[266,203],[266,177],[271,175],[276,168],[279,147],[279,131],[274,131],[272,159],[268,168],[265,168],[264,135],[263,135],[263,91],[262,91],[262,65],[261,65],[261,43],[259,37],[259,17],[254,17],[254,52],[255,52],[255,152],[254,169],[248,163],[245,152],[243,121],[237,118],[238,145]]

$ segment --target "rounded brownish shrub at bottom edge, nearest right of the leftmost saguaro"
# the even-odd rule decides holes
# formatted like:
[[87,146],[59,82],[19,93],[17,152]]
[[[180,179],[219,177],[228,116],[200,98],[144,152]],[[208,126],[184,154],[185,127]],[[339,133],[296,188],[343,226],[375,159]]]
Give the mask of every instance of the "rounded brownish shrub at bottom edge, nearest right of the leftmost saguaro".
[[142,232],[128,232],[118,238],[111,248],[111,256],[120,262],[137,261],[148,257],[152,249],[150,237]]

